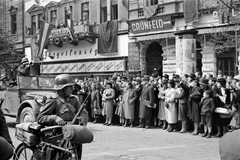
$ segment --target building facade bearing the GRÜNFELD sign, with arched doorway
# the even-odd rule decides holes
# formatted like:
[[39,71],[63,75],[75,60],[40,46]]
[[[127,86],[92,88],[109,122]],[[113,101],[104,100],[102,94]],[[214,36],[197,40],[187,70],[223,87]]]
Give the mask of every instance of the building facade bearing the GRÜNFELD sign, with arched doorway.
[[239,2],[229,4],[234,9],[227,1],[194,2],[197,20],[186,23],[183,0],[129,1],[129,40],[138,46],[133,57],[140,61],[133,70],[142,75],[238,74]]

